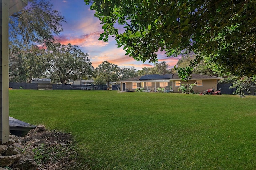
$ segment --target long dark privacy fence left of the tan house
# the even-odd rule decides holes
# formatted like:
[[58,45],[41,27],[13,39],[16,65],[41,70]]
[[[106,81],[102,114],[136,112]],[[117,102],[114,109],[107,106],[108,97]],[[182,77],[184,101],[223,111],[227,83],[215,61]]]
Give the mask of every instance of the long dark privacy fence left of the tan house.
[[12,89],[34,89],[34,90],[81,90],[81,89],[93,89],[93,90],[120,90],[120,85],[71,85],[71,84],[49,84],[49,83],[16,83],[9,82],[9,88]]

